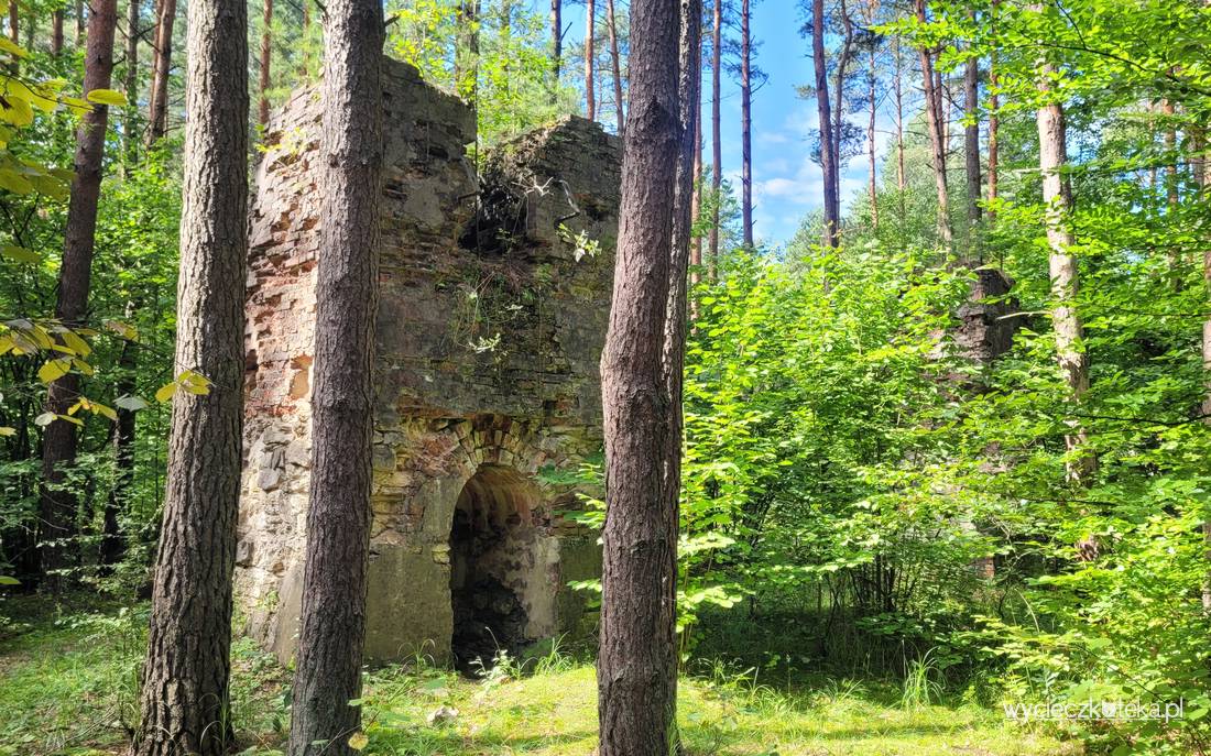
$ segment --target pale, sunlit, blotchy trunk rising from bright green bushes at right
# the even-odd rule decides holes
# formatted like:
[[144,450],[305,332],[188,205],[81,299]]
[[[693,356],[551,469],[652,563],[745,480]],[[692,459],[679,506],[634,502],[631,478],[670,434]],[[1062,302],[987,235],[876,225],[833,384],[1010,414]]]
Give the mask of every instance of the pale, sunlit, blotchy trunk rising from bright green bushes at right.
[[[1043,60],[1039,71],[1039,92],[1046,97],[1051,93],[1050,75],[1055,71],[1055,67]],[[1072,187],[1063,173],[1068,162],[1063,105],[1058,102],[1041,105],[1038,111],[1038,126],[1039,171],[1043,174],[1048,246],[1051,248],[1048,258],[1054,299],[1051,327],[1056,336],[1056,358],[1068,383],[1071,400],[1075,404],[1089,391],[1089,353],[1085,351],[1084,328],[1077,312],[1080,277],[1077,258],[1071,252]],[[1068,478],[1074,483],[1087,484],[1096,460],[1086,451],[1089,438],[1079,421],[1071,421],[1069,427],[1064,437],[1069,452]]]

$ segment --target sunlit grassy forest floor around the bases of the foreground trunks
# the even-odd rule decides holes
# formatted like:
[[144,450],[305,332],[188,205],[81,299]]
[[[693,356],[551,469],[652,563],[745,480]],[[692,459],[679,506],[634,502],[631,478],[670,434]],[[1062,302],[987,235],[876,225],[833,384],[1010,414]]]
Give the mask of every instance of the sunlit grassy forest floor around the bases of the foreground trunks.
[[[18,602],[8,601],[8,611]],[[8,611],[8,613],[13,613]],[[0,755],[120,754],[137,706],[145,613],[42,616],[0,636]],[[248,756],[282,748],[289,675],[249,641],[233,651],[233,717]],[[1079,746],[974,704],[907,700],[899,683],[753,685],[685,677],[679,723],[691,756],[1071,756]],[[597,743],[593,669],[549,653],[483,680],[431,666],[373,673],[367,754],[589,756]],[[435,712],[438,714],[432,721]],[[446,716],[443,716],[446,715]]]

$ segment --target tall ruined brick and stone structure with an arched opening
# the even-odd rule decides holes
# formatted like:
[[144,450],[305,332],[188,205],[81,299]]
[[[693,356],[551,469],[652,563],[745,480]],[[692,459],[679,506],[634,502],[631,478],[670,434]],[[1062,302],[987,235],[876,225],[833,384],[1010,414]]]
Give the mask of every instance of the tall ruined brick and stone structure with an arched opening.
[[[374,521],[366,653],[466,664],[573,630],[599,572],[578,508],[601,449],[598,358],[621,149],[566,119],[467,157],[463,102],[385,62]],[[310,455],[321,109],[272,119],[251,209],[236,587],[248,631],[293,653]]]

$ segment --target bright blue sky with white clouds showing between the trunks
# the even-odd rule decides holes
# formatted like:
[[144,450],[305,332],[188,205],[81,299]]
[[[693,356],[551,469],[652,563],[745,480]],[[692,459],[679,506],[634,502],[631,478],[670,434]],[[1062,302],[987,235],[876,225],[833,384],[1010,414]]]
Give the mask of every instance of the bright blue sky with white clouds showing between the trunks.
[[[544,8],[546,7],[545,4]],[[604,18],[604,13],[599,18]],[[584,45],[584,6],[564,8],[570,25],[564,45]],[[796,87],[815,79],[810,44],[799,36],[803,13],[794,0],[753,2],[752,35],[758,42],[753,62],[768,81],[753,93],[753,226],[754,235],[774,247],[794,236],[803,217],[822,204],[822,174],[809,157],[810,135],[816,128],[815,99],[802,100]],[[704,30],[710,33],[708,29]],[[735,33],[733,33],[735,36]],[[725,71],[727,73],[727,71]],[[705,75],[710,75],[706,71]],[[723,80],[723,174],[740,187],[740,90],[727,75]],[[710,116],[710,82],[704,81],[704,111]],[[865,125],[865,115],[855,119]],[[705,133],[705,158],[710,161],[710,123]],[[886,149],[889,123],[880,114],[878,152]],[[866,156],[855,157],[842,174],[842,200],[866,186]]]

